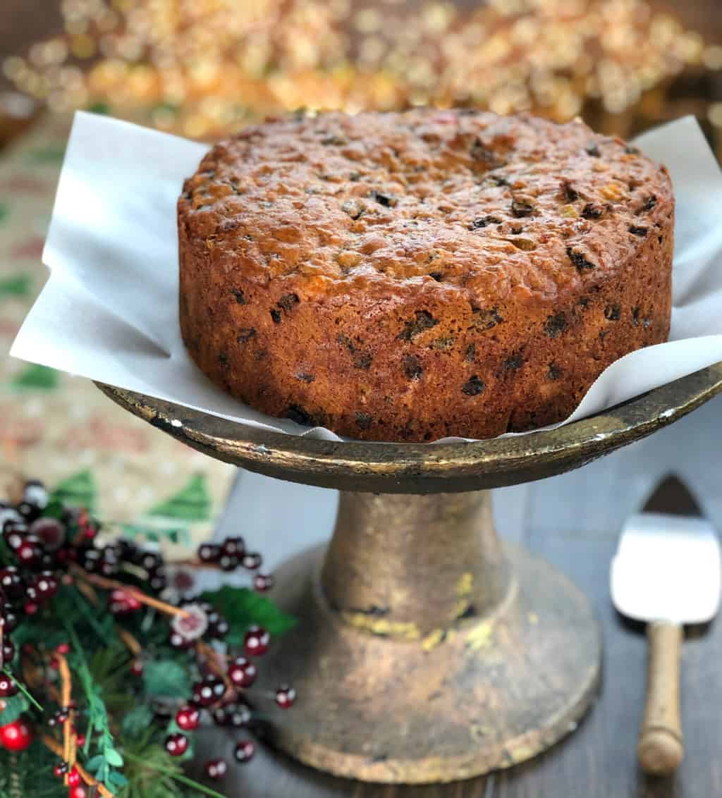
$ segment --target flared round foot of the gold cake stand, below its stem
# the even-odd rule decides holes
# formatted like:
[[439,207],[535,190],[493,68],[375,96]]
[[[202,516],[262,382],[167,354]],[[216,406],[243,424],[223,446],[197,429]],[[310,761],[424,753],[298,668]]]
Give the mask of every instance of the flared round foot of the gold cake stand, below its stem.
[[268,655],[262,684],[290,678],[298,698],[266,714],[268,740],[337,776],[427,784],[510,767],[573,731],[598,688],[597,620],[552,567],[506,553],[519,589],[432,647],[346,626],[314,584],[321,550],[288,563],[276,600],[301,622]]

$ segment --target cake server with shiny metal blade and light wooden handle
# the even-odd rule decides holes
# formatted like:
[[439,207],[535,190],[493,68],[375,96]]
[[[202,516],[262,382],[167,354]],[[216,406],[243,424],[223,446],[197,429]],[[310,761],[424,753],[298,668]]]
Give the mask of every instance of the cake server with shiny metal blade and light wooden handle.
[[621,614],[647,623],[647,697],[637,757],[646,772],[673,772],[684,745],[680,717],[682,625],[711,620],[720,604],[720,544],[687,488],[669,476],[629,516],[612,561]]

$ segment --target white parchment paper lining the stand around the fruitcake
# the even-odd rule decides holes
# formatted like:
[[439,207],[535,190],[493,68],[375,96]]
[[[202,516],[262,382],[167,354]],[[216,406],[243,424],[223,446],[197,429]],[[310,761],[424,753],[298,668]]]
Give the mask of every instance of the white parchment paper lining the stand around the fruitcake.
[[[667,165],[677,196],[670,340],[610,365],[563,424],[722,361],[720,168],[693,117],[635,143]],[[328,429],[242,405],[186,354],[176,199],[206,151],[205,144],[77,113],[42,258],[50,278],[10,354],[260,429],[339,440]]]

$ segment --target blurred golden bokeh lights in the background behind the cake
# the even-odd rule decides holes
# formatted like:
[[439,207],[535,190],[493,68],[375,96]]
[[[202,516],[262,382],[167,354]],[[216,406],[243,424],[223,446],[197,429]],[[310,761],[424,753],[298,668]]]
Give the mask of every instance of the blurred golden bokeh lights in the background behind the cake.
[[695,113],[722,152],[716,0],[43,0],[34,23],[3,3],[45,26],[0,51],[4,81],[52,112],[194,138],[298,108],[474,105],[622,136]]

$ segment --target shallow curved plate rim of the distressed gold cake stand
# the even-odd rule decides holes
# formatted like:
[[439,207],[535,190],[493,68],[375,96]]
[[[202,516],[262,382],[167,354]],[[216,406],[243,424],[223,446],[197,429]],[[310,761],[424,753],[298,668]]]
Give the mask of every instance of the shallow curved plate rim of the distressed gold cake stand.
[[267,476],[359,491],[457,492],[553,476],[646,437],[720,393],[722,362],[557,429],[473,443],[321,440],[95,384],[116,404],[192,448]]

